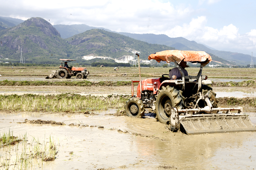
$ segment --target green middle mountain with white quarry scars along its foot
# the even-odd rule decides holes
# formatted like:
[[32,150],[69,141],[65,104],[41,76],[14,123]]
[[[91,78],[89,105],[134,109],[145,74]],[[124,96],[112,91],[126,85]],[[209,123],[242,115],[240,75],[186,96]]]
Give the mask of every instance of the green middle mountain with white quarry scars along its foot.
[[119,58],[134,55],[133,51],[136,51],[140,52],[142,59],[148,60],[148,56],[152,53],[175,49],[166,45],[149,44],[101,29],[88,30],[65,40],[72,45],[70,51],[73,52],[73,57],[94,55]]

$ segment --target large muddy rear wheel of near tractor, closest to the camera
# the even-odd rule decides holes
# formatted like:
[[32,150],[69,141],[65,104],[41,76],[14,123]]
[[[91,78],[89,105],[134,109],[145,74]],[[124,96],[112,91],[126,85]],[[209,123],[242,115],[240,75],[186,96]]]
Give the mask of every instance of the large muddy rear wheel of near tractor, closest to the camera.
[[186,106],[183,101],[184,99],[181,91],[169,85],[158,90],[157,99],[155,101],[158,121],[163,124],[168,124],[172,107],[183,109],[183,107]]

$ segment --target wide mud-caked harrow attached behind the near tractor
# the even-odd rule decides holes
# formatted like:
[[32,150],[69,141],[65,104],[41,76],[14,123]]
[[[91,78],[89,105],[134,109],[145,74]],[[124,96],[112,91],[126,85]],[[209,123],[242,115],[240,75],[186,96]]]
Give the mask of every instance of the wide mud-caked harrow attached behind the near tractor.
[[[238,110],[238,113],[230,111]],[[198,112],[206,114],[198,114]],[[226,113],[216,113],[226,111]],[[180,115],[178,113],[181,113]],[[197,114],[189,114],[196,112]],[[215,112],[215,113],[212,113]],[[176,107],[171,109],[169,125],[171,130],[180,129],[186,134],[204,134],[204,133],[228,133],[242,131],[256,131],[255,126],[247,115],[242,114],[242,107],[233,108],[212,108],[204,107],[202,109],[180,109]]]

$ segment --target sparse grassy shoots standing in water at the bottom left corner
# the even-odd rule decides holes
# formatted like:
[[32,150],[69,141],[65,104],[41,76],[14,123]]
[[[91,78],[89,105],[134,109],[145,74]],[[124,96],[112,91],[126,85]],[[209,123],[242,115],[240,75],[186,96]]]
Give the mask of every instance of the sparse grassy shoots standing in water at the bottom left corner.
[[[4,133],[3,136],[8,136]],[[57,144],[50,136],[49,142],[41,144],[39,140],[32,137],[30,143],[27,140],[27,134],[22,137],[21,145],[5,145],[0,148],[0,168],[8,170],[32,169],[34,166],[41,166],[45,161],[54,161],[58,153]]]

